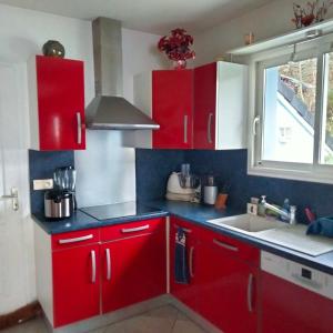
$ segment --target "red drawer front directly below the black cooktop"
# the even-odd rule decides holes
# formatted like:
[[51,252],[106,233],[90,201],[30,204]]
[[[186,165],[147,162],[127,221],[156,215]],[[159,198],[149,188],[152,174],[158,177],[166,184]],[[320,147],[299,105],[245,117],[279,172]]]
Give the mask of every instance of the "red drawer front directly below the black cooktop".
[[101,228],[101,241],[108,242],[164,230],[165,219],[151,219]]

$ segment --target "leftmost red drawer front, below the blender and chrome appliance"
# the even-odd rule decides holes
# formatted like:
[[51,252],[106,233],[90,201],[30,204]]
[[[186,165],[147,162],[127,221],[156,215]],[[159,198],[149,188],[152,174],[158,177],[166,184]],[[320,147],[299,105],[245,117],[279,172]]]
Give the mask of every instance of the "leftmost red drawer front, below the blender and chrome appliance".
[[52,235],[52,250],[74,248],[100,241],[99,229],[85,229]]

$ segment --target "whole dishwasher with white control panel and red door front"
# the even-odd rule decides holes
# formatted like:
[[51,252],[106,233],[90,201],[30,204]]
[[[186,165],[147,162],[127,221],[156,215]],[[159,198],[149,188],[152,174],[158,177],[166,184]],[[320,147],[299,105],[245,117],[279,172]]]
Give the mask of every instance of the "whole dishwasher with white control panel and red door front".
[[333,275],[261,251],[262,333],[332,333]]

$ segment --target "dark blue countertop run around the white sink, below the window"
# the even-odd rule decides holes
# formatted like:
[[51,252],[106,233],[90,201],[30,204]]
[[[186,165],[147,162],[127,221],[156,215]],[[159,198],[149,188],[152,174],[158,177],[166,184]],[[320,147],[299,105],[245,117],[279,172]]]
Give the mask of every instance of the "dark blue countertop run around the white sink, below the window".
[[[260,250],[264,250],[276,255],[283,256],[285,259],[299,262],[301,264],[307,265],[310,268],[320,270],[322,272],[329,273],[333,275],[333,251],[317,255],[311,256],[307,254],[303,254],[302,252],[297,252],[294,250],[290,250],[282,245],[278,245],[264,240],[260,240],[258,238],[232,231],[230,229],[215,225],[209,223],[208,220],[219,219],[219,218],[228,218],[238,214],[244,214],[245,211],[235,210],[228,208],[225,211],[216,210],[211,206],[204,206],[201,204],[189,203],[189,202],[175,202],[175,201],[165,201],[165,200],[157,200],[149,201],[144,203],[145,205],[153,206],[157,209],[161,209],[165,212],[169,212],[172,215],[178,218],[192,221],[198,225],[202,225],[221,234],[225,234],[232,238],[235,238],[240,241],[252,244]],[[283,222],[281,222],[283,223]]]

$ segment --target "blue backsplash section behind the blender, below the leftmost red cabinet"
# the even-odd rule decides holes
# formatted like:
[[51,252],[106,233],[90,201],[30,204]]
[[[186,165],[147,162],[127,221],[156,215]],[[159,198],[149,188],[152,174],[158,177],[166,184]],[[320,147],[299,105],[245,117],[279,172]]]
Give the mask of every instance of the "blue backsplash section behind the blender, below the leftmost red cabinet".
[[74,165],[73,151],[36,151],[29,150],[29,182],[31,212],[44,210],[44,191],[33,191],[34,179],[51,179],[56,168]]

